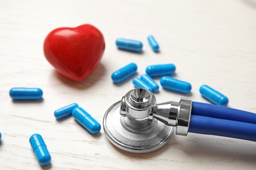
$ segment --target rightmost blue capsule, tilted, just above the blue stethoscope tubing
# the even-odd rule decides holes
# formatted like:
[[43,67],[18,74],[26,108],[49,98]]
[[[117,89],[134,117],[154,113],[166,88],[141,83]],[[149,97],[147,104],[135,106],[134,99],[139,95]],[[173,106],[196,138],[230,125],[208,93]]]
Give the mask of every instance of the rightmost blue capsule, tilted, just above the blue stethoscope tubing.
[[228,105],[228,97],[207,85],[203,85],[200,87],[200,93],[203,95],[203,97],[205,97],[215,105]]

